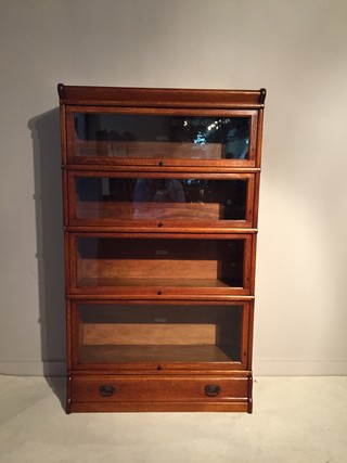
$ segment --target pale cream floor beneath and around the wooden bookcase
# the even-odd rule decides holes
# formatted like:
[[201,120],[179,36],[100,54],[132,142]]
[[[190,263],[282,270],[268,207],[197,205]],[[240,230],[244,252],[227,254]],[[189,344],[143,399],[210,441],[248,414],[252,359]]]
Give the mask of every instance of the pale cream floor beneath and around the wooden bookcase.
[[1,463],[346,463],[347,377],[257,377],[254,413],[66,415],[64,380],[0,376]]

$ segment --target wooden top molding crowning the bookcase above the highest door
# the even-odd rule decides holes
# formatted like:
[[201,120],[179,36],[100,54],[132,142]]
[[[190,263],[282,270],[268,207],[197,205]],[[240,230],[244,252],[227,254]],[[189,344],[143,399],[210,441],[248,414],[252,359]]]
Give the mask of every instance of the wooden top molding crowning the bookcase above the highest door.
[[264,107],[266,89],[193,90],[57,85],[61,104],[216,110]]

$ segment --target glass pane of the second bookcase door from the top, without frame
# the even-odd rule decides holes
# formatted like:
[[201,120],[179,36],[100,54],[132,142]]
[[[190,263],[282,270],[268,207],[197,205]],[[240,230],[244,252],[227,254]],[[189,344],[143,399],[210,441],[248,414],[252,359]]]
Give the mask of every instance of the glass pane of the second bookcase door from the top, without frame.
[[76,217],[83,220],[245,220],[247,180],[76,179]]

